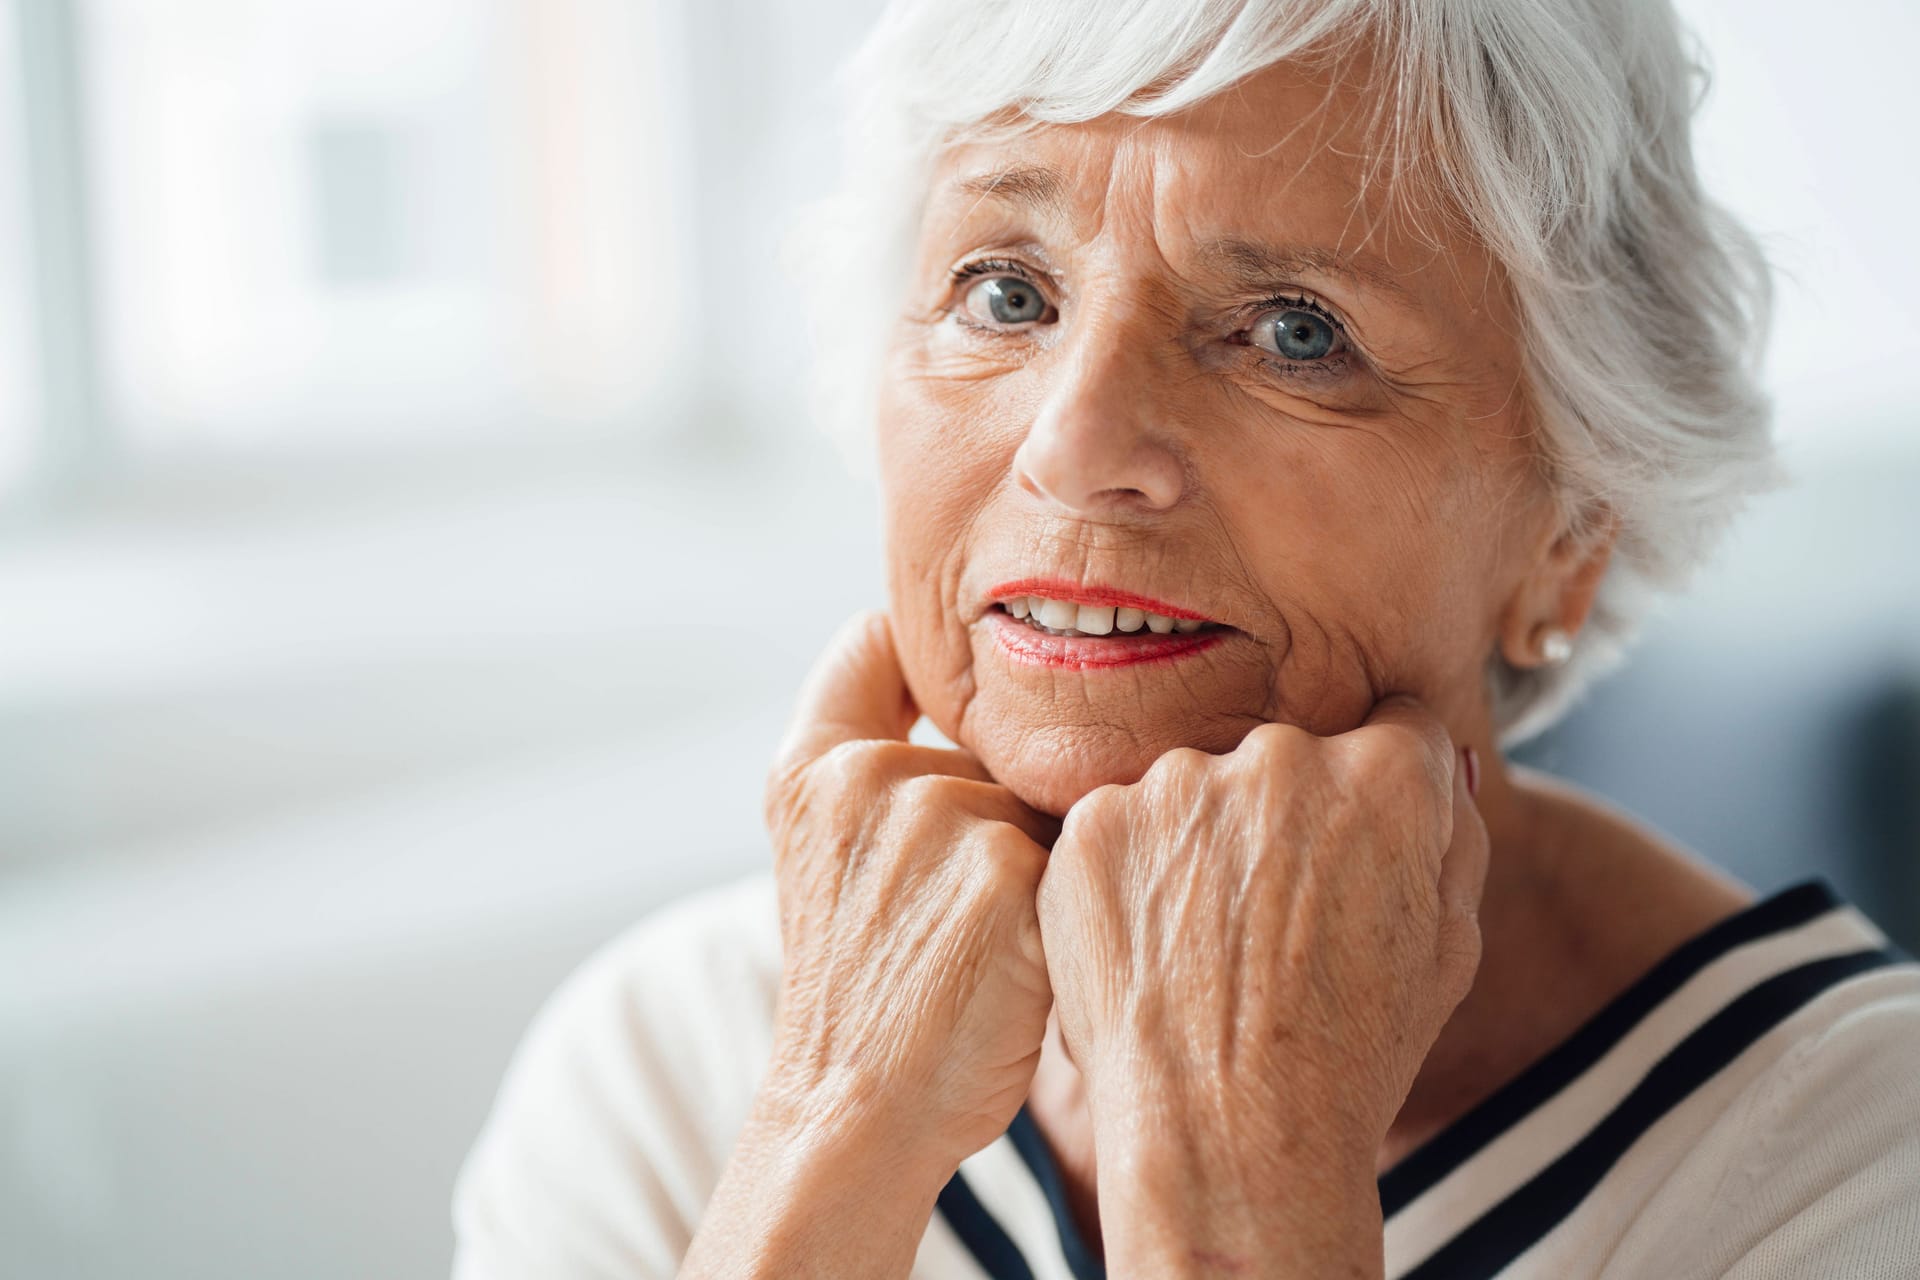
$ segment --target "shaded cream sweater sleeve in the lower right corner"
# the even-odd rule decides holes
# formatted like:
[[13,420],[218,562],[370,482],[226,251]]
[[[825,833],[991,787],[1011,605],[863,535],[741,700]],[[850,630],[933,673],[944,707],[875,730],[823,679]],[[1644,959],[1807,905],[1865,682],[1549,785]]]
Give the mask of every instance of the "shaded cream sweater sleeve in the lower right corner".
[[[1782,1065],[1720,1186],[1701,1274],[1920,1280],[1920,971]],[[1724,1265],[1722,1265],[1724,1263]]]

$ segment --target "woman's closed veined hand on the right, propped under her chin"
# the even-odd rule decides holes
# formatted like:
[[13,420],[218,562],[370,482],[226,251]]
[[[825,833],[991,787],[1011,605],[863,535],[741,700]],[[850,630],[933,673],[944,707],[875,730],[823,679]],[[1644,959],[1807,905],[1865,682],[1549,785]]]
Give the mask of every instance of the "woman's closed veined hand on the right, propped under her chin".
[[[1390,697],[1336,737],[1275,723],[1225,756],[1171,750],[1068,812],[1041,933],[1102,1205],[1139,1192],[1110,1173],[1156,1169],[1196,1201],[1177,1230],[1208,1240],[1196,1217],[1240,1205],[1271,1224],[1308,1186],[1371,1197],[1478,967],[1486,827],[1465,773],[1446,727]],[[1235,1253],[1233,1236],[1204,1251]]]

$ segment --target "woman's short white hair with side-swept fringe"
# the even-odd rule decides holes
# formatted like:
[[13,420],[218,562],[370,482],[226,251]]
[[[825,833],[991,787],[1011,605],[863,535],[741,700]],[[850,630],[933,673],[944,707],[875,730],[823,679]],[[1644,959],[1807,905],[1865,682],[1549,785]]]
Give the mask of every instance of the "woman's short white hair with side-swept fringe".
[[[1384,71],[1375,167],[1419,167],[1509,274],[1536,455],[1567,530],[1617,522],[1572,658],[1490,654],[1494,725],[1513,745],[1613,668],[1657,595],[1778,484],[1757,386],[1768,273],[1701,192],[1690,123],[1705,75],[1667,0],[897,0],[843,71],[845,184],[793,242],[816,290],[818,405],[870,439],[943,146],[1162,115],[1359,44]],[[864,317],[820,284],[876,276],[887,297],[864,299]]]

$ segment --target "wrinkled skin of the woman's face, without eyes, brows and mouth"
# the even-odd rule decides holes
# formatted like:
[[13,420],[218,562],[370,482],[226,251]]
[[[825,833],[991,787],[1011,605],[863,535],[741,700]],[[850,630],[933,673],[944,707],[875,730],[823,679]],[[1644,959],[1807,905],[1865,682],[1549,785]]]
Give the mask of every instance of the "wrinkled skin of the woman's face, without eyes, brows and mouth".
[[[933,723],[1046,812],[1173,747],[1352,729],[1396,691],[1484,737],[1503,618],[1561,585],[1572,549],[1553,553],[1503,276],[1463,236],[1415,234],[1386,192],[1356,196],[1356,109],[1273,69],[1171,119],[956,146],[933,178],[879,411],[895,626]],[[1031,182],[956,190],[1037,165],[1060,207],[1004,194]],[[1398,288],[1238,280],[1225,240],[1363,259]],[[1029,265],[1058,320],[970,328],[948,273],[981,257]],[[1325,303],[1356,353],[1250,345],[1271,296]],[[1025,576],[1125,585],[1238,635],[1098,677],[1020,668],[985,614]]]

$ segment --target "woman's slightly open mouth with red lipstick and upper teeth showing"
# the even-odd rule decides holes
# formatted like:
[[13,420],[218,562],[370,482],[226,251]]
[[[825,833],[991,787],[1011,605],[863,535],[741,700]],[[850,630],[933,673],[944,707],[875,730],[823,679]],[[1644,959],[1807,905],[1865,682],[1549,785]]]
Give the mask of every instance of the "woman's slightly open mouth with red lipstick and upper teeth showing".
[[989,616],[1002,649],[1041,666],[1165,660],[1200,652],[1233,631],[1177,604],[1106,587],[1006,583],[993,595]]

